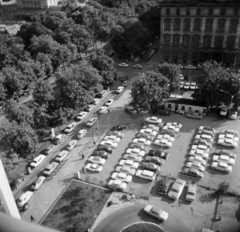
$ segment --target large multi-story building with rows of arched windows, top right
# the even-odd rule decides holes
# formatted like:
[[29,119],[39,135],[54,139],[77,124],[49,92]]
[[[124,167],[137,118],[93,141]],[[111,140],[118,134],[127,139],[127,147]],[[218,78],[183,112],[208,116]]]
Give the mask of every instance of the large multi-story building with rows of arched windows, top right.
[[160,61],[240,65],[240,0],[163,0]]

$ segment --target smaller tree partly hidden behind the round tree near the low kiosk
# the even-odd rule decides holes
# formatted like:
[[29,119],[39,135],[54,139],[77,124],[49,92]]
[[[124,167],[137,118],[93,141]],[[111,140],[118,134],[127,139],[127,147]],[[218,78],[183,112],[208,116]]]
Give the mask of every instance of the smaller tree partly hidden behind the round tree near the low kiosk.
[[181,70],[178,65],[165,62],[158,66],[158,70],[163,76],[168,78],[170,92],[179,90],[179,75],[181,74]]

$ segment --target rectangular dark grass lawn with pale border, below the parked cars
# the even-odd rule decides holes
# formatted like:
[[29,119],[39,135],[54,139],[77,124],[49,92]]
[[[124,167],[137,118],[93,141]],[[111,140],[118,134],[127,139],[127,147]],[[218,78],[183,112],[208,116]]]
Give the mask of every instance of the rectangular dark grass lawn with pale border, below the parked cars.
[[86,231],[111,195],[111,191],[73,180],[41,223],[65,232]]

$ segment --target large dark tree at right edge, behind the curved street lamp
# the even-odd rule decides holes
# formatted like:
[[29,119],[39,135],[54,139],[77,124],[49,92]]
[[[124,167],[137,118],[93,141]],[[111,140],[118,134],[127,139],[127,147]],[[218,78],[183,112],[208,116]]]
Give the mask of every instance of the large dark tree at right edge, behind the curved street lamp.
[[[235,95],[239,92],[240,83],[237,76],[230,74],[221,64],[217,62],[205,62],[200,66],[201,75],[198,78],[198,89],[193,97],[205,104],[206,107],[218,107],[221,104],[229,105],[230,96],[226,96],[219,90]],[[233,101],[238,105],[238,99]]]

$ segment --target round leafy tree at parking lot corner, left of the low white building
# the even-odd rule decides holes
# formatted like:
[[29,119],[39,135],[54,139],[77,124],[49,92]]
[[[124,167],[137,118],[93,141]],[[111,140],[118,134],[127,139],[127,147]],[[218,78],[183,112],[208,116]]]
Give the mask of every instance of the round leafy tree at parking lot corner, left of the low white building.
[[169,96],[169,80],[161,73],[148,71],[133,82],[132,101],[135,106],[155,112]]

